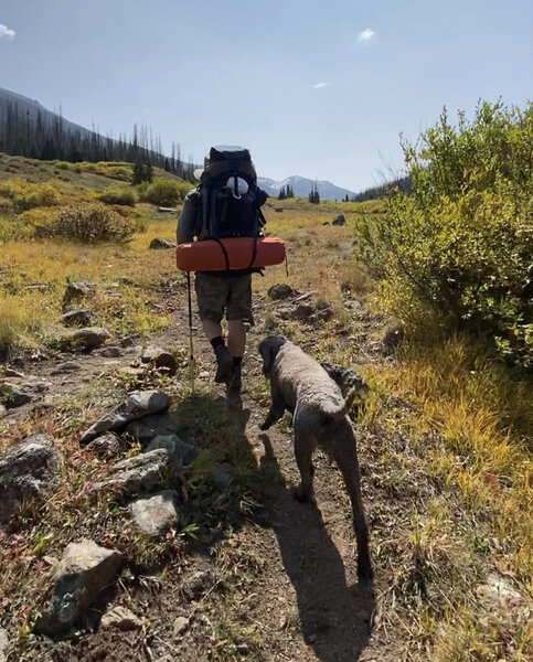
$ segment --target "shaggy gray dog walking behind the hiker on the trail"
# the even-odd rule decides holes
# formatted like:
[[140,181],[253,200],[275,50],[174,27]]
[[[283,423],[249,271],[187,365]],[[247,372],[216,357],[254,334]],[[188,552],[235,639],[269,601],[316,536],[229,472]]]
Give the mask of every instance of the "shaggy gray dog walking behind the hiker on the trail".
[[324,369],[285,338],[273,335],[259,344],[263,373],[270,381],[271,406],[262,430],[267,430],[288,409],[292,413],[295,455],[301,484],[299,501],[312,499],[312,452],[320,445],[330,452],[344,478],[353,511],[358,541],[358,574],[372,577],[369,530],[361,502],[358,451],[348,412],[358,393],[344,398]]

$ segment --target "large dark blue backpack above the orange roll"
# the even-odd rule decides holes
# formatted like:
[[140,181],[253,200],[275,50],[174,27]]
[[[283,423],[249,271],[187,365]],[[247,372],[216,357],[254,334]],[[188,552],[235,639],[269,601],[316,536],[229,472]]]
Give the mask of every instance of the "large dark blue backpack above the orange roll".
[[199,186],[200,239],[254,237],[262,234],[260,206],[267,195],[247,149],[212,147]]

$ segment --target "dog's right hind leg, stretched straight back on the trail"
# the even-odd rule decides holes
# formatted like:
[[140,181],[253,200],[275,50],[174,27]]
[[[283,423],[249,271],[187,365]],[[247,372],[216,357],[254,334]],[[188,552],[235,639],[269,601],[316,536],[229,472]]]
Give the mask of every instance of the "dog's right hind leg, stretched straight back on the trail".
[[361,578],[370,579],[372,578],[372,564],[369,551],[369,528],[361,500],[358,449],[350,424],[345,421],[347,428],[344,428],[344,421],[341,425],[343,429],[339,429],[332,444],[333,457],[342,472],[352,502],[353,528],[358,541],[358,575]]

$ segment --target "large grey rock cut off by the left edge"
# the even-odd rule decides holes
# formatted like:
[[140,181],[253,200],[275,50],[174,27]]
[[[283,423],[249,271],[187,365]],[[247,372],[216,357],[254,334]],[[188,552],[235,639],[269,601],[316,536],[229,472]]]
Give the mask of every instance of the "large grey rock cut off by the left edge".
[[51,494],[60,482],[61,455],[50,437],[33,435],[0,453],[0,523],[21,503]]

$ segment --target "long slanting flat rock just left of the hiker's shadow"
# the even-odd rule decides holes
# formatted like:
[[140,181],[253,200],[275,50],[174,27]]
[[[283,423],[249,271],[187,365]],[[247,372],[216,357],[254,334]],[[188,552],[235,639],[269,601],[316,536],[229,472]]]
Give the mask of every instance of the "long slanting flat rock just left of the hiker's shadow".
[[169,407],[169,396],[161,391],[135,391],[109,412],[92,425],[81,437],[81,444],[88,444],[100,433],[121,430],[127,423],[142,418],[148,414],[164,412]]

